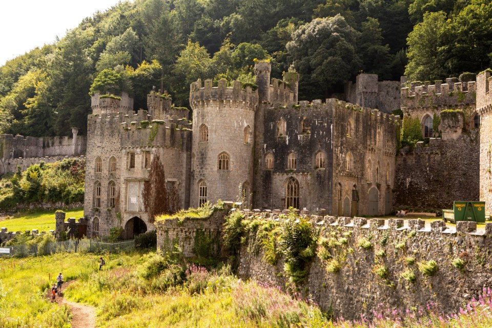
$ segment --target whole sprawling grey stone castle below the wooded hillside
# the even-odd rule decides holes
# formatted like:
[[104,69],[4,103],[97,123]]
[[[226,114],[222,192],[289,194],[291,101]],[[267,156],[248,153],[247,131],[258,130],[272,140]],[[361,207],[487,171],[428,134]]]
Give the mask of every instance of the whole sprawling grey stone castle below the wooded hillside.
[[[484,132],[492,104],[489,72],[478,75],[477,88],[453,79],[401,88],[404,80],[378,82],[377,75],[361,74],[338,95],[343,100],[311,103],[297,99],[296,72],[284,73],[283,80],[270,75],[271,64],[260,62],[257,90],[239,81],[193,83],[191,120],[166,93],[151,92],[148,111],[137,113],[126,93],[120,99],[95,94],[87,140],[74,131],[71,140],[44,141],[39,156],[57,142],[72,145],[57,155],[87,148],[84,213],[91,236],[112,227],[124,228],[125,237],[153,229],[142,191],[155,155],[166,173],[162,188],[178,195],[180,208],[238,198],[250,208],[339,216],[439,208],[479,197],[489,206],[490,168],[479,169],[490,158],[490,141],[484,141],[492,138]],[[402,122],[390,112],[399,108],[404,122],[418,120],[427,143],[413,150],[398,145]],[[26,158],[22,143],[37,142],[39,149],[41,141],[26,140],[0,136],[5,172],[35,161]]]

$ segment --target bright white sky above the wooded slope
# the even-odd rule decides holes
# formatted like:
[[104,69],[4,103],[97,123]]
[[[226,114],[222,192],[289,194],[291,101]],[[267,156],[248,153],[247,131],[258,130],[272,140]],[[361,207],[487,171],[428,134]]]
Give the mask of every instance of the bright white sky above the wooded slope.
[[118,0],[0,0],[0,66],[63,37],[85,17]]

